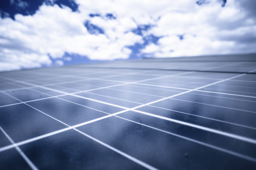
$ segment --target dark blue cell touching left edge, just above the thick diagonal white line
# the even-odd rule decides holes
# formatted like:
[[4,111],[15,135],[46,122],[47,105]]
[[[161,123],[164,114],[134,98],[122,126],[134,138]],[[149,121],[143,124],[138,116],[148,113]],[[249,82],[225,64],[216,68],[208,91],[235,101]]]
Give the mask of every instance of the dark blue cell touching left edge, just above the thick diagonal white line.
[[25,104],[0,107],[0,120],[0,126],[14,142],[67,127]]

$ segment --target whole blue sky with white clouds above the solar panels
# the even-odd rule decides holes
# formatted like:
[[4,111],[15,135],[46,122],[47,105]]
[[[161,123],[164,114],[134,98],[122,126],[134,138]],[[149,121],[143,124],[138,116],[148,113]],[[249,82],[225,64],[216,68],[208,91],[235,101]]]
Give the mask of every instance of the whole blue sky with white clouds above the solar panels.
[[0,71],[256,53],[254,0],[0,0]]

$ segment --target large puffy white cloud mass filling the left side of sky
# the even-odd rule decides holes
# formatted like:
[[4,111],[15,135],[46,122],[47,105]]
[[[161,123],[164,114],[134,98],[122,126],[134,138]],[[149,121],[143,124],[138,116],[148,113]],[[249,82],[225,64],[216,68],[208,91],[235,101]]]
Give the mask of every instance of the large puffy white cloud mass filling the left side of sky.
[[[39,67],[40,63],[49,65],[52,62],[48,55],[53,59],[61,59],[65,52],[86,55],[94,60],[125,59],[131,53],[125,46],[142,39],[129,32],[136,27],[131,18],[110,20],[109,25],[102,18],[98,17],[98,21],[92,18],[93,24],[106,25],[103,25],[106,34],[98,35],[88,33],[84,26],[88,19],[88,14],[72,12],[68,7],[61,9],[57,5],[42,5],[33,16],[17,14],[15,21],[10,18],[0,19],[0,36],[3,37],[0,39],[1,62],[12,63],[8,66],[5,64],[6,67],[1,67],[1,70]],[[8,54],[4,50],[8,50]],[[24,51],[33,55],[25,55]],[[40,57],[42,59],[38,59]],[[57,64],[63,65],[60,61]]]

